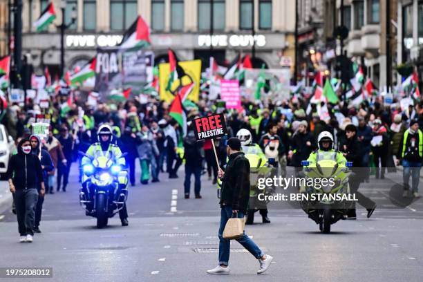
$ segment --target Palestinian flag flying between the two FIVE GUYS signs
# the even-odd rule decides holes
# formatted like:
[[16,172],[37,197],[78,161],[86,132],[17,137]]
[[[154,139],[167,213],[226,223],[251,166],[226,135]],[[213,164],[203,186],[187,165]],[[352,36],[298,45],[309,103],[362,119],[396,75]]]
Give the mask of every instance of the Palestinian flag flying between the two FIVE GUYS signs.
[[124,33],[120,49],[144,48],[151,44],[150,28],[141,16],[132,23]]

